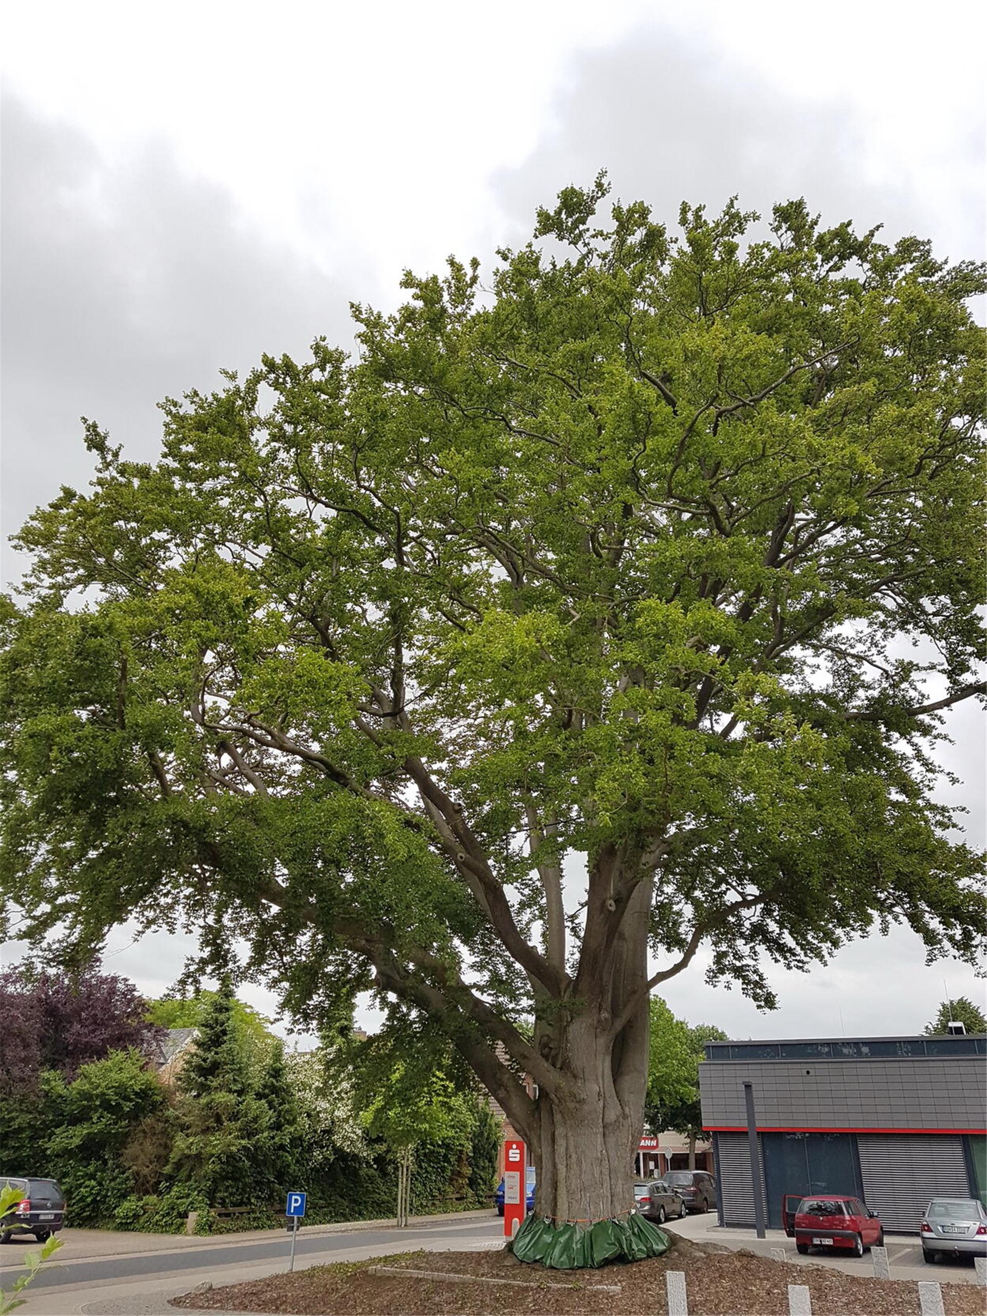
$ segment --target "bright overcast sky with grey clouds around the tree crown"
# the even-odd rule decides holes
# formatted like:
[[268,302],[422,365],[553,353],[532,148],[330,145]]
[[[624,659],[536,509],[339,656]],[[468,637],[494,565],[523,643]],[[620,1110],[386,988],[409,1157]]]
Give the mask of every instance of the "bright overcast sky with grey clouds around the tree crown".
[[[804,195],[826,220],[983,258],[983,7],[420,0],[343,7],[8,5],[3,32],[4,540],[88,478],[79,416],[151,455],[155,403],[262,351],[347,343],[347,301],[404,267],[525,240],[534,207],[605,167],[674,221]],[[18,563],[4,542],[3,565]],[[950,716],[944,797],[984,840],[983,721]],[[180,940],[112,940],[149,994]],[[9,958],[9,951],[8,951]],[[896,933],[759,1013],[701,965],[671,1007],[740,1037],[921,1029],[969,969]],[[250,992],[262,1008],[263,992]],[[840,1013],[842,1012],[842,1020]]]

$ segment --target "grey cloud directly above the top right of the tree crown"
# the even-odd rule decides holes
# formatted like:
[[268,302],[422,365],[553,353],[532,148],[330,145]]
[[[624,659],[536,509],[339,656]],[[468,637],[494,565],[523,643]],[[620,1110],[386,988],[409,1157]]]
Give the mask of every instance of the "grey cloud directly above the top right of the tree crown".
[[[901,95],[923,89],[903,86]],[[920,232],[957,259],[983,250],[979,122],[942,143],[946,195],[919,193],[904,179],[878,186],[865,172],[867,125],[849,108],[786,97],[747,67],[653,28],[575,59],[553,117],[532,155],[495,178],[519,236],[536,205],[605,167],[616,195],[645,199],[669,222],[682,200],[719,209],[738,195],[763,215],[804,195],[826,221]],[[899,147],[908,159],[907,141]]]

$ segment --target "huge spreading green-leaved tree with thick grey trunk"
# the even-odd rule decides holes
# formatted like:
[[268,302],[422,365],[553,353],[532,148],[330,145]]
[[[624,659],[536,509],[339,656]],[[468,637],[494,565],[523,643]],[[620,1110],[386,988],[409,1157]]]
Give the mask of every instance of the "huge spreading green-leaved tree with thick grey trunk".
[[604,195],[354,307],[353,359],[164,403],[154,463],[89,424],[0,701],[21,936],[199,928],[303,1019],[375,987],[561,1220],[632,1204],[649,991],[700,948],[771,1004],[874,926],[984,930],[934,797],[984,688],[983,271]]

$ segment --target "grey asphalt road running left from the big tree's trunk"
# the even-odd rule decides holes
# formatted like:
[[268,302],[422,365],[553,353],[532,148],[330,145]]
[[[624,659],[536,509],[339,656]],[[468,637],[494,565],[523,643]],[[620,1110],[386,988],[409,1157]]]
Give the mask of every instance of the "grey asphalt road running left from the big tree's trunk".
[[[480,1220],[463,1221],[462,1224],[442,1221],[428,1225],[412,1225],[408,1229],[359,1229],[347,1233],[320,1233],[312,1234],[307,1229],[299,1230],[295,1249],[296,1265],[311,1266],[320,1262],[332,1262],[336,1254],[353,1252],[354,1245],[359,1248],[379,1248],[382,1252],[413,1252],[417,1248],[428,1246],[436,1236],[442,1236],[445,1246],[470,1248],[483,1242],[496,1242],[503,1238],[504,1224],[496,1216],[487,1216]],[[433,1242],[434,1245],[434,1242]],[[20,1269],[20,1257],[37,1246],[33,1238],[24,1242],[12,1240],[3,1250],[0,1259],[7,1270]],[[139,1255],[99,1257],[92,1259],[72,1261],[70,1249],[63,1248],[50,1261],[32,1283],[30,1292],[38,1294],[42,1290],[55,1287],[113,1283],[114,1280],[134,1280],[143,1275],[167,1277],[182,1274],[188,1277],[190,1287],[200,1278],[216,1269],[226,1270],[232,1266],[258,1266],[263,1262],[276,1270],[283,1263],[287,1270],[291,1238],[284,1232],[283,1238],[261,1238],[257,1241],[243,1241],[241,1238],[217,1241],[215,1246],[175,1248],[174,1250],[155,1250]],[[9,1283],[9,1280],[8,1280]]]

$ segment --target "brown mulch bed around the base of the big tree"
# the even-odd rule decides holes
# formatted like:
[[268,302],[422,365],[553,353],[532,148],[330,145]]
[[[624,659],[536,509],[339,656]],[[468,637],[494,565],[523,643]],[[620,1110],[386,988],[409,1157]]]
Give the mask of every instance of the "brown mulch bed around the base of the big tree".
[[[443,1274],[529,1280],[478,1284],[372,1275],[374,1265]],[[867,1262],[865,1262],[867,1265]],[[665,1274],[686,1274],[690,1316],[788,1316],[788,1284],[808,1284],[819,1316],[919,1316],[915,1280],[879,1280],[822,1266],[767,1261],[751,1252],[676,1238],[665,1257],[633,1266],[550,1271],[522,1265],[511,1253],[415,1252],[371,1261],[312,1266],[246,1284],[209,1288],[172,1299],[187,1311],[286,1312],[292,1316],[667,1316]],[[932,1278],[932,1277],[930,1277]],[[938,1275],[934,1277],[937,1280]],[[620,1284],[620,1294],[594,1292]],[[946,1316],[984,1316],[976,1284],[942,1283]]]

